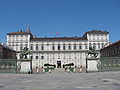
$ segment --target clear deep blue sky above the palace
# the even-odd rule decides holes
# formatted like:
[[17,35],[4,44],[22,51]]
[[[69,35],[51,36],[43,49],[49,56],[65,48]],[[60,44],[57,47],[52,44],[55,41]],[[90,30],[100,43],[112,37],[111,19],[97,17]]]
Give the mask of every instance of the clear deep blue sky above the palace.
[[0,42],[27,25],[37,37],[107,30],[115,42],[120,40],[120,0],[0,0]]

